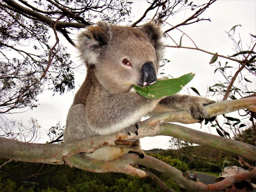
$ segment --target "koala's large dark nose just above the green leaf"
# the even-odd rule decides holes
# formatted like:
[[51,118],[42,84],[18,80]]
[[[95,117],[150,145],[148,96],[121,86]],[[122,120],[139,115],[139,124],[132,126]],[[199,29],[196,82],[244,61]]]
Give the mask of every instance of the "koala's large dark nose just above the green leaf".
[[156,69],[153,62],[146,62],[142,65],[141,86],[148,86],[156,82]]

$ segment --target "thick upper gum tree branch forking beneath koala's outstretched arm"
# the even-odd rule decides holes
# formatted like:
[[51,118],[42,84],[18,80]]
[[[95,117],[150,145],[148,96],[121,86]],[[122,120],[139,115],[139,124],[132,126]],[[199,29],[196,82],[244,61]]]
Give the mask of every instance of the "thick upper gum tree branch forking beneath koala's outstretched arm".
[[[205,106],[210,116],[230,113],[239,109],[256,109],[256,98],[226,100]],[[218,149],[237,154],[249,160],[255,160],[256,147],[250,144],[234,141],[209,133],[186,128],[182,125],[168,122],[195,123],[198,120],[191,118],[185,111],[176,111],[151,117],[138,123],[139,135],[132,136],[117,133],[86,137],[65,144],[38,144],[23,143],[0,137],[0,157],[17,161],[63,164],[62,157],[69,157],[79,152],[91,153],[102,146],[113,146],[119,140],[143,138],[146,136],[168,135],[199,145],[216,147]],[[221,142],[220,142],[221,141]]]

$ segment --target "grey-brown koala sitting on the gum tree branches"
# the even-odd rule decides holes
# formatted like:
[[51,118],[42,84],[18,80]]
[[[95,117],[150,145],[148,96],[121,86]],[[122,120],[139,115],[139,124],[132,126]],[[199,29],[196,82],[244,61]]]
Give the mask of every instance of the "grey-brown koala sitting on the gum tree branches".
[[[142,117],[173,110],[209,119],[203,106],[212,100],[180,94],[147,99],[133,90],[131,84],[143,87],[157,80],[164,48],[161,28],[152,21],[137,28],[100,22],[82,29],[77,49],[87,74],[69,109],[64,141],[118,132],[138,135]],[[143,158],[139,139],[132,141],[130,146],[105,146],[85,155],[111,161],[132,152]]]

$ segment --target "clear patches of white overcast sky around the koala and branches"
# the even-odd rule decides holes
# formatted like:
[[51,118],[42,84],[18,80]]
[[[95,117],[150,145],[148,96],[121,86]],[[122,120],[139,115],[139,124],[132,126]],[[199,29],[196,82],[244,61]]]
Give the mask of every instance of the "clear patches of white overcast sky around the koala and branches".
[[[195,1],[197,2],[197,1]],[[207,2],[204,1],[198,1]],[[132,4],[132,14],[136,13],[136,17],[133,21],[136,21],[143,14],[141,10],[145,10],[148,7],[146,1],[136,0]],[[148,14],[148,18],[150,18]],[[175,15],[175,18],[170,17],[168,23],[171,25],[176,25],[181,23],[184,19],[188,18],[191,12],[188,10]],[[242,27],[237,27],[234,37],[238,37],[240,33],[242,43],[244,43],[244,49],[247,50],[245,43],[251,42],[250,33],[256,34],[256,0],[218,0],[213,3],[200,18],[210,18],[210,21],[200,21],[188,26],[182,26],[179,29],[183,30],[191,39],[196,43],[196,45],[204,50],[210,51],[212,53],[218,52],[220,55],[232,55],[234,51],[233,42],[228,38],[228,35],[224,31],[229,31],[235,25],[242,25]],[[166,25],[163,27],[164,30],[169,27]],[[169,32],[169,35],[179,44],[181,32],[173,30]],[[169,45],[175,45],[173,42],[166,42]],[[73,46],[68,45],[68,52],[72,54],[72,60],[76,63],[80,61],[77,60],[77,53]],[[192,47],[191,41],[183,36],[182,46]],[[207,87],[217,83],[217,80],[221,78],[218,73],[214,74],[214,67],[209,64],[212,56],[206,53],[202,53],[196,50],[188,49],[177,49],[177,48],[166,48],[165,58],[171,60],[168,69],[165,72],[173,77],[179,77],[183,74],[190,72],[196,73],[194,79],[186,87],[195,87],[202,96],[206,95]],[[225,63],[225,59],[220,59],[222,63]],[[230,61],[229,61],[230,62]],[[230,62],[231,63],[231,62]],[[85,79],[85,72],[82,74],[76,73],[75,82],[76,89],[73,92],[65,93],[64,95],[54,95],[52,96],[52,91],[45,91],[43,94],[39,95],[39,107],[33,110],[21,114],[6,115],[9,119],[23,120],[25,123],[30,117],[38,119],[39,124],[42,127],[41,132],[44,133],[44,138],[40,140],[40,143],[45,143],[45,138],[47,138],[46,130],[51,126],[55,125],[59,121],[62,125],[66,123],[66,116],[70,105],[72,104],[75,92],[79,89],[79,85],[82,84]],[[256,78],[248,77],[255,86]],[[256,88],[256,86],[255,86]],[[186,88],[184,88],[186,90]],[[185,91],[183,93],[186,94]],[[195,95],[193,91],[190,91],[192,95]],[[212,98],[210,98],[212,99]],[[237,114],[237,113],[236,113]],[[232,115],[229,115],[232,116]],[[221,117],[218,117],[218,120]],[[200,124],[190,124],[185,125],[186,127],[197,129],[200,131],[209,132],[207,127],[200,129]],[[212,134],[216,134],[215,128],[211,129]],[[162,148],[167,149],[169,147],[168,141],[170,137],[168,136],[156,136],[156,137],[146,137],[141,139],[142,149],[148,150],[152,148]],[[47,141],[49,139],[47,138]]]

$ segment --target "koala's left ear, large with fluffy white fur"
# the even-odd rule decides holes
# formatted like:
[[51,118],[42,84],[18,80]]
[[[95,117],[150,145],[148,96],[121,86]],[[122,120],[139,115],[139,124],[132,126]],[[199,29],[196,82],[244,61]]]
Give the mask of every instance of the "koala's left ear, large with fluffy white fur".
[[95,26],[82,29],[77,35],[76,48],[80,51],[80,57],[88,65],[97,63],[99,50],[111,39],[111,25],[99,22]]

